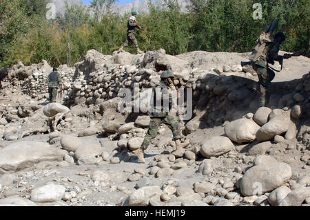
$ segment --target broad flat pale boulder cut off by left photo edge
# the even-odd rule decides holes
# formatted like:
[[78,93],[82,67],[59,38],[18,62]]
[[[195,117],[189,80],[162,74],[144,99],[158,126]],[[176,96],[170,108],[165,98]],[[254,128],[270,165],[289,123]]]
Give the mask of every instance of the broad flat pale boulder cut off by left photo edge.
[[0,173],[17,172],[41,161],[63,161],[64,150],[48,143],[21,141],[0,149]]

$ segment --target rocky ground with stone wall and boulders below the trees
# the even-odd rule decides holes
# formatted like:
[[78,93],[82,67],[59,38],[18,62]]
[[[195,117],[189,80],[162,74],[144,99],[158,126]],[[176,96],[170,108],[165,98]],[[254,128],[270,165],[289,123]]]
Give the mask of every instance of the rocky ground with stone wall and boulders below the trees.
[[[240,61],[247,54],[90,50],[59,67],[63,98],[52,104],[46,61],[1,70],[0,205],[309,206],[309,59],[285,62],[268,108],[258,108],[257,76]],[[149,117],[121,112],[121,89],[143,103],[167,69],[177,89],[193,91],[193,115],[180,120],[188,144],[177,150],[163,125],[138,163],[132,150]]]

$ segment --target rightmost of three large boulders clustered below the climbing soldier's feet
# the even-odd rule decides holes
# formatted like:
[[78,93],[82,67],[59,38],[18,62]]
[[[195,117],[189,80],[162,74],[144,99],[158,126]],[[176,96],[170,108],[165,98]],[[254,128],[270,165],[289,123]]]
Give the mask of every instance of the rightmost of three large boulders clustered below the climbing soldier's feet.
[[277,134],[283,134],[291,128],[291,123],[293,123],[287,117],[274,117],[265,125],[263,125],[256,133],[256,139],[258,141],[268,141],[273,139]]

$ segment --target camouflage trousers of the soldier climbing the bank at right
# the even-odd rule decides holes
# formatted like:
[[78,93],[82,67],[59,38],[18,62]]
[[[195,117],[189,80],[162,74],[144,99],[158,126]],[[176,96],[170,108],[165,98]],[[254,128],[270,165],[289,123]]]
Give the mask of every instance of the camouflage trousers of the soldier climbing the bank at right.
[[260,84],[260,107],[266,106],[269,103],[269,90],[271,81],[275,77],[275,73],[268,68],[268,66],[254,65],[254,70],[256,70],[258,75],[258,83]]

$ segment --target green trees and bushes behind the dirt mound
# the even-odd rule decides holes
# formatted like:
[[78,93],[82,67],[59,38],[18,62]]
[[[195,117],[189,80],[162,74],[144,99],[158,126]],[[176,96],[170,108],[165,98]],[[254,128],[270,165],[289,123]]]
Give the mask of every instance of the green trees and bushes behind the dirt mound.
[[[260,0],[261,20],[253,18],[256,0],[189,1],[188,12],[181,12],[176,0],[165,0],[160,7],[149,1],[149,13],[136,17],[143,27],[136,33],[141,50],[249,52],[274,18],[280,19],[274,32],[287,35],[281,50],[309,50],[309,0]],[[0,68],[42,59],[51,66],[73,66],[91,49],[112,54],[126,39],[130,12],[114,14],[111,3],[114,0],[93,1],[93,16],[79,6],[67,6],[56,21],[47,21],[46,1],[1,0]],[[125,50],[136,52],[134,46]]]

